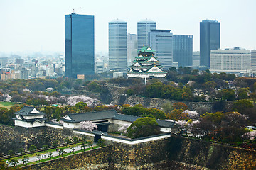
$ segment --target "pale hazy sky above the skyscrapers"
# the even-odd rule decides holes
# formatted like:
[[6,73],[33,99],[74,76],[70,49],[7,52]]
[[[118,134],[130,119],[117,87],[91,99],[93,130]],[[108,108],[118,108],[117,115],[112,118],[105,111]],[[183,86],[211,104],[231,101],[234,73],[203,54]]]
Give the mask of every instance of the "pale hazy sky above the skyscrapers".
[[64,51],[64,16],[73,8],[95,16],[95,52],[108,51],[108,22],[149,18],[157,29],[191,34],[199,50],[199,23],[220,22],[220,46],[256,49],[256,0],[0,0],[0,52]]

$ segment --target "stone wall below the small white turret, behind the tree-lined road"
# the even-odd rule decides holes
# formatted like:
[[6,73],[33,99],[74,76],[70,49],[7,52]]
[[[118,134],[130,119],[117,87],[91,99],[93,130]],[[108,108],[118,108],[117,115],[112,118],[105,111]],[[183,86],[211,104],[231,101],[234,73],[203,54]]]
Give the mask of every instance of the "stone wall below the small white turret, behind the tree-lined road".
[[60,130],[50,127],[21,128],[0,124],[0,155],[9,150],[18,152],[19,148],[52,146],[53,142],[64,143],[65,138],[75,136],[72,130]]

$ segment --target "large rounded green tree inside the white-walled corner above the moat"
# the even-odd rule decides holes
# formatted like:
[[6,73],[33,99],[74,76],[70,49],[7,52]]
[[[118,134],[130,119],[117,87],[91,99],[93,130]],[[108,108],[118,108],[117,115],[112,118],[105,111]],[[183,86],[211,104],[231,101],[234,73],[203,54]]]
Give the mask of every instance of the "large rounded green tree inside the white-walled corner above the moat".
[[155,118],[139,118],[127,128],[128,136],[138,138],[159,134],[160,130],[157,125]]

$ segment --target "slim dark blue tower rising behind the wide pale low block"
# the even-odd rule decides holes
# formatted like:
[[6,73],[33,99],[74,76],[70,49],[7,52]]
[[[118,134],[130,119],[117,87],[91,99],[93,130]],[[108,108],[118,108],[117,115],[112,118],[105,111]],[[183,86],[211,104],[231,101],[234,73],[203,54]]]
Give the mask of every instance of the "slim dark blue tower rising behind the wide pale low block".
[[220,48],[220,23],[203,20],[200,23],[200,65],[210,68],[210,50]]

